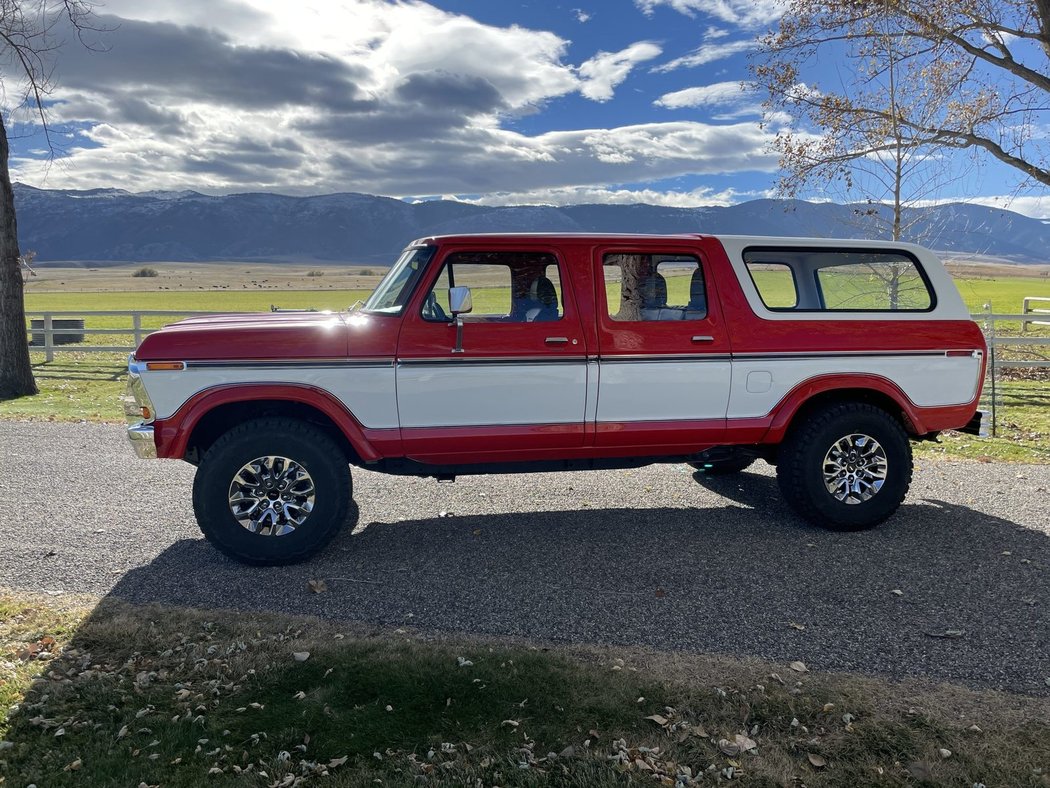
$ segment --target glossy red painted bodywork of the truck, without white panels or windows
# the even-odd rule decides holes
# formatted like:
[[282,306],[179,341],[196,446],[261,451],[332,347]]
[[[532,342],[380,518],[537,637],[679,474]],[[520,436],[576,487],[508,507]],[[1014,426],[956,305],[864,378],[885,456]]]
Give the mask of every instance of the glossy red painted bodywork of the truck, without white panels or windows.
[[[907,319],[837,320],[817,314],[813,319],[765,319],[751,308],[724,249],[713,236],[460,235],[424,242],[439,248],[401,315],[274,313],[195,317],[148,336],[136,352],[136,358],[143,361],[261,362],[928,350],[965,356],[974,350],[985,350],[981,331],[970,320],[938,320],[911,315]],[[553,255],[560,266],[562,319],[531,324],[467,322],[463,330],[463,353],[454,354],[455,326],[423,320],[422,302],[449,254],[477,250],[534,251]],[[707,317],[636,324],[611,320],[602,264],[606,253],[616,252],[697,256],[706,273]],[[727,330],[729,326],[732,326],[731,333]],[[711,339],[694,341],[696,336]],[[547,341],[549,337],[565,337],[568,341],[551,345]],[[346,374],[352,375],[353,370],[348,369]],[[581,417],[579,423],[570,424],[399,431],[362,428],[333,395],[314,387],[231,383],[196,394],[171,417],[158,420],[154,438],[160,456],[183,457],[193,429],[211,409],[231,402],[273,399],[297,402],[326,415],[364,462],[394,457],[460,464],[678,456],[718,444],[778,443],[806,401],[843,389],[878,392],[890,398],[918,435],[962,427],[976,408],[976,399],[963,406],[919,408],[891,380],[868,374],[835,374],[800,383],[771,414],[761,418],[593,423]],[[566,392],[566,396],[578,395],[582,397],[583,392]]]

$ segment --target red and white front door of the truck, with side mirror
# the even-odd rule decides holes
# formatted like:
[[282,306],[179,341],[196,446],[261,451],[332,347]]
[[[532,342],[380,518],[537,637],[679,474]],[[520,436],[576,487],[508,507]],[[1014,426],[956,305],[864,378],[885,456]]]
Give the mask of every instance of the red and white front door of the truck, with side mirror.
[[[442,255],[398,340],[406,456],[452,464],[546,459],[580,449],[587,353],[559,253],[494,245]],[[464,286],[474,308],[458,332],[448,290]]]

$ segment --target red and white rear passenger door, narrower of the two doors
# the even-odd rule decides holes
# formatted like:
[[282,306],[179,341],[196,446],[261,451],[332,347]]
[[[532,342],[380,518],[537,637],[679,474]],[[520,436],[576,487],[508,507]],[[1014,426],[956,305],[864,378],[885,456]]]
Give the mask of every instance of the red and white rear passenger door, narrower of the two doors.
[[593,270],[596,445],[673,454],[720,441],[730,344],[704,255],[674,242],[607,246]]

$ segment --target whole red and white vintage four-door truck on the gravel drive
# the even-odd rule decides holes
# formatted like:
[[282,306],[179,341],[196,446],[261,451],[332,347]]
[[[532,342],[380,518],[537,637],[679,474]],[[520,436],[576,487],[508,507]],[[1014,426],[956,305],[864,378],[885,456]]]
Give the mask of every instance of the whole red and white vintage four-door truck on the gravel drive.
[[202,531],[249,563],[323,547],[353,465],[453,480],[761,458],[799,515],[855,531],[897,511],[909,440],[982,430],[985,350],[912,245],[447,235],[412,243],[359,308],[149,335],[125,410],[140,456],[197,466]]

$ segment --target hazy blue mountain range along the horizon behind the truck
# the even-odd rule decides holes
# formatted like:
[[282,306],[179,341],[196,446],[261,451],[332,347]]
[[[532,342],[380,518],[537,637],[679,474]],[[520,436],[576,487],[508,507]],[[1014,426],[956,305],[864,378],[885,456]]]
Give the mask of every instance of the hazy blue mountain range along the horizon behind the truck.
[[[886,237],[885,208],[753,200],[727,207],[492,207],[370,194],[211,196],[15,184],[21,248],[37,264],[163,261],[390,263],[417,237],[462,232],[710,232]],[[877,215],[879,212],[882,215]],[[907,237],[943,253],[1050,263],[1050,222],[967,203],[914,208]]]

